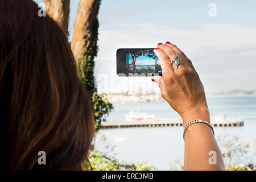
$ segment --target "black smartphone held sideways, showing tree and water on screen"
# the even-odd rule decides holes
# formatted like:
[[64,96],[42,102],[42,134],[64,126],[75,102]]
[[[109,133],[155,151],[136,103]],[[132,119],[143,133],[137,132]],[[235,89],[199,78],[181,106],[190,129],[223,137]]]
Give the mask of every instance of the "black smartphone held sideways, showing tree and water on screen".
[[117,49],[118,76],[162,76],[154,48]]

